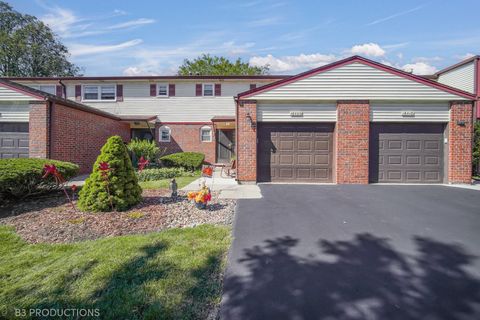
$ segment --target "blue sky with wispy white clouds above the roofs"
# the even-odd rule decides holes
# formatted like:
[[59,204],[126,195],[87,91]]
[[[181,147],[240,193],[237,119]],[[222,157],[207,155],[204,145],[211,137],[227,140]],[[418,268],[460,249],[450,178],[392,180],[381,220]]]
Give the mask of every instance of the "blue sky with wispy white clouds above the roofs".
[[174,74],[202,53],[295,74],[352,54],[429,74],[480,53],[478,0],[24,1],[85,75]]

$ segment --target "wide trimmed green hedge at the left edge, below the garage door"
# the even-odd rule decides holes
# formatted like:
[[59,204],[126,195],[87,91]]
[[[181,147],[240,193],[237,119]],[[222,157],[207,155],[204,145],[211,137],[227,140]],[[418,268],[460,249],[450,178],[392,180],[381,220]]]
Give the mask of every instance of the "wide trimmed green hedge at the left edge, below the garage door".
[[50,159],[0,159],[0,197],[25,198],[58,189],[53,176],[43,179],[43,167],[54,164],[65,180],[78,174],[78,166]]

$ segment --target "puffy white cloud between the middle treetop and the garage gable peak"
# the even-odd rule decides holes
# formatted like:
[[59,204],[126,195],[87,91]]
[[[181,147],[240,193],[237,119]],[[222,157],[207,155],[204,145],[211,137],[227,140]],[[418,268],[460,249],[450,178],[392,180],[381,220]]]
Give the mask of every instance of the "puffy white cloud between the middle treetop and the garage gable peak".
[[333,54],[300,54],[297,56],[285,56],[276,58],[269,54],[267,56],[254,56],[250,58],[250,64],[253,66],[268,65],[272,72],[298,71],[302,69],[317,68],[328,63],[334,62],[338,58]]

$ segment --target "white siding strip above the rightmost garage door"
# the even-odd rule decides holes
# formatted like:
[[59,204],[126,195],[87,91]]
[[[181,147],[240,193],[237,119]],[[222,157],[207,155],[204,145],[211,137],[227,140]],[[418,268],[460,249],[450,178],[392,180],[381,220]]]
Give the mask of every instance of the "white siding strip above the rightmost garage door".
[[371,103],[372,122],[448,122],[448,103]]

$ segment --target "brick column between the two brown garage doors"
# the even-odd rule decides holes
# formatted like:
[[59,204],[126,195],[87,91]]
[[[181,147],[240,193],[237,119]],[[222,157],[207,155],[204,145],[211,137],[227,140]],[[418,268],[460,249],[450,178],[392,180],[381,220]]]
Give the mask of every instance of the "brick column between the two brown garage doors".
[[337,102],[336,182],[368,184],[370,104],[368,101]]

